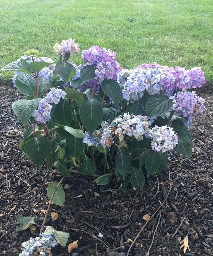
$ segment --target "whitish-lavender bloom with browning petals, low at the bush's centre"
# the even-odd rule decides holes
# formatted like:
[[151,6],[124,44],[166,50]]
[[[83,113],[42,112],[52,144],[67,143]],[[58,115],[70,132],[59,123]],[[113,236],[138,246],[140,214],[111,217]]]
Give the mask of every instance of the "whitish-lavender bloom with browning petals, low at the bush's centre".
[[134,136],[138,141],[143,140],[143,135],[148,137],[151,122],[148,120],[147,116],[124,113],[124,115],[117,118],[115,122],[118,122],[115,134],[119,137],[119,141],[123,141],[125,135],[129,137]]

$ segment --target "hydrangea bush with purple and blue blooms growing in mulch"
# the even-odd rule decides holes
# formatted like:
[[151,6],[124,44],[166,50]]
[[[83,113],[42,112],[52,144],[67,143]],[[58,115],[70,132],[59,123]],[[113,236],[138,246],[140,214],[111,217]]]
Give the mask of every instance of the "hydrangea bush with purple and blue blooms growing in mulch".
[[[201,68],[151,63],[127,70],[115,52],[98,46],[83,50],[77,65],[70,59],[79,46],[71,38],[54,50],[57,62],[33,49],[2,69],[15,71],[13,84],[26,96],[13,111],[26,127],[21,150],[39,168],[46,162],[65,177],[73,169],[96,173],[98,185],[116,181],[126,191],[168,169],[171,150],[190,160],[188,130],[204,110],[192,91],[206,82]],[[57,184],[48,185],[49,197]],[[53,202],[63,206],[59,189],[61,199]]]

